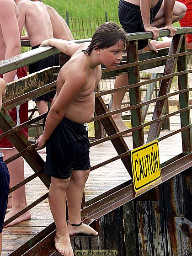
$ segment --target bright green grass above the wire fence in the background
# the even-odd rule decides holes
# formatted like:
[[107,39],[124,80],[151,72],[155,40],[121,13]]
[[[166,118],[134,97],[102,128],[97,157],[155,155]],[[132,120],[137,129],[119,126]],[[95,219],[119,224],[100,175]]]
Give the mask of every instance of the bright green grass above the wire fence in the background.
[[44,4],[53,6],[59,14],[66,18],[66,11],[69,18],[96,18],[118,16],[119,0],[43,0]]

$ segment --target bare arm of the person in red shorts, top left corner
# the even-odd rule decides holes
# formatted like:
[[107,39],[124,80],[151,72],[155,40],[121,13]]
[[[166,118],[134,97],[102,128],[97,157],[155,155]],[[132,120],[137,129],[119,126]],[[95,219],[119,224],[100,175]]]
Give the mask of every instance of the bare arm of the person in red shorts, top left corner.
[[[0,15],[0,27],[6,47],[5,59],[7,59],[18,55],[21,49],[15,2],[12,0],[0,1],[0,10],[3,10]],[[15,75],[16,70],[4,74],[5,83],[13,81]]]

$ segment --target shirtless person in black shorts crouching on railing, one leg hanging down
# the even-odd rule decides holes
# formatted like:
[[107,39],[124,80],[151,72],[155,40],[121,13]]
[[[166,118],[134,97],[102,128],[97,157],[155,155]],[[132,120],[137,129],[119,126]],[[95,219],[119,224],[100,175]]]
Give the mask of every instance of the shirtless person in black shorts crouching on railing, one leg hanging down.
[[[120,0],[119,20],[127,33],[152,32],[156,39],[159,37],[159,28],[170,30],[172,37],[176,29],[172,23],[179,21],[186,13],[186,6],[175,0]],[[148,46],[149,50],[158,52],[148,40],[140,40],[138,49]],[[128,85],[128,76],[120,75],[115,80],[114,88]],[[112,110],[120,109],[126,91],[119,91],[113,94]],[[121,119],[121,114],[112,116],[120,131],[127,129]],[[130,135],[130,134],[129,134]]]

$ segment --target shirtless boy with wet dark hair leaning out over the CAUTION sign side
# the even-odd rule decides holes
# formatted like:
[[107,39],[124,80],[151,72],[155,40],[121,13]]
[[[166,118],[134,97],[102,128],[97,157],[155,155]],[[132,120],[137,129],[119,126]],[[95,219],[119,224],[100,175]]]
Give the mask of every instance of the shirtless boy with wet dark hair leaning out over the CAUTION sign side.
[[94,89],[101,80],[101,63],[114,69],[122,60],[127,37],[117,24],[106,22],[96,29],[91,43],[48,39],[41,44],[47,45],[72,56],[59,72],[57,93],[37,149],[47,146],[44,172],[51,176],[49,205],[57,227],[55,247],[63,255],[73,256],[69,235],[97,235],[90,226],[82,224],[80,215],[85,182],[90,172],[85,123],[94,115]]

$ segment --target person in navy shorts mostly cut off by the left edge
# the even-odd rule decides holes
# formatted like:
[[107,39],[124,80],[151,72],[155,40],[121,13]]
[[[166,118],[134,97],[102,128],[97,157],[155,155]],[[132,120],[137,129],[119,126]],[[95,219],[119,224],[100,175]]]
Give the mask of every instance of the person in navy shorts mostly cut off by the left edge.
[[[2,106],[2,96],[5,95],[5,81],[0,78],[0,110]],[[2,247],[2,229],[7,209],[9,194],[9,171],[3,161],[3,153],[0,151],[0,255]]]

